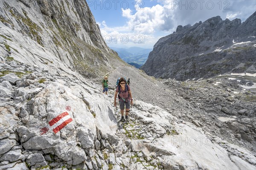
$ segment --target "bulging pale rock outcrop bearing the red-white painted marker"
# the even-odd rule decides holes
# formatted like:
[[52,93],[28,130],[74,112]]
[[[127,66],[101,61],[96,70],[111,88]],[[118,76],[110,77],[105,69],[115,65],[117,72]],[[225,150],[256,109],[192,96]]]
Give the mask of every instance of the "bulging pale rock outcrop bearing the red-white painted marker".
[[84,169],[90,158],[101,162],[99,149],[118,142],[111,102],[81,75],[54,75],[17,61],[0,69],[9,73],[0,77],[1,170],[27,170],[16,167],[20,161],[32,169],[63,162]]

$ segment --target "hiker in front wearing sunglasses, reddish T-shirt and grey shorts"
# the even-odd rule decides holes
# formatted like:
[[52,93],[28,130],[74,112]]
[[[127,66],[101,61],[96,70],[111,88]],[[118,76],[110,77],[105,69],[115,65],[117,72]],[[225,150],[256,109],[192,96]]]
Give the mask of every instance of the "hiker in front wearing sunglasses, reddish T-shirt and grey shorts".
[[[130,89],[129,85],[126,84],[126,81],[123,77],[119,79],[119,83],[116,88],[115,99],[114,99],[115,107],[116,107],[117,94],[118,94],[121,115],[122,115],[122,117],[119,121],[125,122],[125,119],[126,119],[126,121],[129,122],[128,113],[130,111],[130,102],[132,105],[133,99],[132,99],[132,95],[131,95],[131,89]],[[125,118],[124,118],[124,109],[125,109]]]

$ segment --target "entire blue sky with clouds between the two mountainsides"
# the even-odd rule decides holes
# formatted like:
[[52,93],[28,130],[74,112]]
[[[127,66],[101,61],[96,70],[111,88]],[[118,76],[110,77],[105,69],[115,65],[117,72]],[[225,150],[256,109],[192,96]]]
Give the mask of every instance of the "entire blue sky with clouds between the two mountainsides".
[[160,37],[185,26],[221,16],[243,22],[256,0],[87,0],[110,47],[153,48]]

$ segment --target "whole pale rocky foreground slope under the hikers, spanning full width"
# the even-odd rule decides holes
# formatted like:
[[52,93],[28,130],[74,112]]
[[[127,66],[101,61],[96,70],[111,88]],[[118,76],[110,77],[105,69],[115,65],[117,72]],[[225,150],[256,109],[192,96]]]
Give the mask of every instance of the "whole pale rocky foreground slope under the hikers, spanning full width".
[[[255,169],[255,153],[158,106],[136,100],[131,122],[118,125],[114,91],[79,74],[13,59],[0,67],[1,170]],[[49,121],[64,112],[72,121],[54,133]]]

